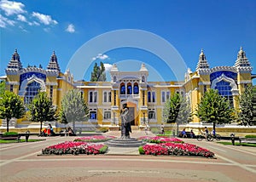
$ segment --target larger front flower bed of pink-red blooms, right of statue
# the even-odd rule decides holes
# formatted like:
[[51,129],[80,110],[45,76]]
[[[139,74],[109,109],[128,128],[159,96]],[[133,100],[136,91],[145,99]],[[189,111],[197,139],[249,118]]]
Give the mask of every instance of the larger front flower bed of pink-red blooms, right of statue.
[[139,147],[140,154],[144,155],[173,155],[173,156],[204,156],[213,157],[214,153],[197,145],[160,143],[155,145],[144,145]]

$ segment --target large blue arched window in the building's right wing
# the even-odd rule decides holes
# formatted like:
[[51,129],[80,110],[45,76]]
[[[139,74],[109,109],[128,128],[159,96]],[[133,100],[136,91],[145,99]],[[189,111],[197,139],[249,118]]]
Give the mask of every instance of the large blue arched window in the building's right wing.
[[232,88],[230,86],[230,82],[225,82],[224,80],[217,82],[215,89],[218,89],[218,94],[229,100],[230,106],[234,107],[233,95],[231,92]]

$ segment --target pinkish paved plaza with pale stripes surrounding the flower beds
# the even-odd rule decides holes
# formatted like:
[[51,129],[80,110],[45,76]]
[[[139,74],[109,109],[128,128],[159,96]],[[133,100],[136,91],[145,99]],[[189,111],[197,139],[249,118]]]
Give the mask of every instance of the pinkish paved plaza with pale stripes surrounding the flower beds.
[[[107,133],[119,136],[119,132]],[[131,137],[145,135],[135,131]],[[150,134],[153,135],[153,134]],[[31,136],[31,138],[38,138]],[[215,159],[188,156],[139,156],[137,148],[109,147],[100,156],[38,156],[49,145],[75,137],[0,145],[0,179],[19,181],[253,181],[254,147],[183,139],[215,153]],[[41,139],[41,138],[40,138]]]

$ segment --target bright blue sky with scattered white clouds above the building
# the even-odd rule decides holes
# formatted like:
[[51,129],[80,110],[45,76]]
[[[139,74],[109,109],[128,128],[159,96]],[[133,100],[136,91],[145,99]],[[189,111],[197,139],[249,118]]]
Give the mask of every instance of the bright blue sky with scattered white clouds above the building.
[[108,81],[113,64],[142,63],[148,81],[182,80],[201,49],[210,67],[231,66],[241,46],[256,74],[255,9],[255,0],[1,0],[0,76],[17,48],[23,67],[46,68],[55,51],[76,80],[100,61]]

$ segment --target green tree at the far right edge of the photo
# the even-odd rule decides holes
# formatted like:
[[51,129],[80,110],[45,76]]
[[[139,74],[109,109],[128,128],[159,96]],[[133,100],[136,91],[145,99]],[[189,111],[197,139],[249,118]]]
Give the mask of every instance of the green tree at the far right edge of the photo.
[[253,125],[253,88],[248,86],[239,98],[239,119],[243,125]]

